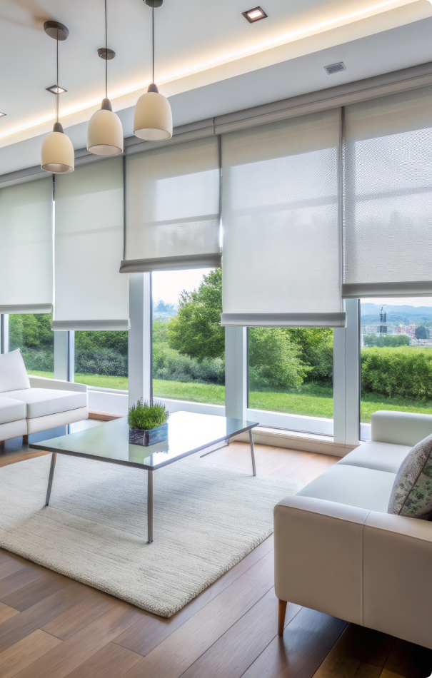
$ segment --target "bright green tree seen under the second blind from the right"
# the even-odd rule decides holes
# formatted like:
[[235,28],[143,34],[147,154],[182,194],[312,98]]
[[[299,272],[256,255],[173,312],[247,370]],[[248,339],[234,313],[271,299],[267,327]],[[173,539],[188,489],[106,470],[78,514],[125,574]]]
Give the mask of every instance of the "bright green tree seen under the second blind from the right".
[[298,347],[280,328],[249,329],[249,381],[251,388],[293,387],[303,383],[308,371]]

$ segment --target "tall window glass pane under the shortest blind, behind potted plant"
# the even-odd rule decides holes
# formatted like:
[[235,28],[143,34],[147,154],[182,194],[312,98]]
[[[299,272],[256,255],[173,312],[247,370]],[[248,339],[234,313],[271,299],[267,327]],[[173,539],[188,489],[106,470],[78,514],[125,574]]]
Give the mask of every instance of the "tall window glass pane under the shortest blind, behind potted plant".
[[153,290],[153,395],[225,405],[220,268],[157,271]]

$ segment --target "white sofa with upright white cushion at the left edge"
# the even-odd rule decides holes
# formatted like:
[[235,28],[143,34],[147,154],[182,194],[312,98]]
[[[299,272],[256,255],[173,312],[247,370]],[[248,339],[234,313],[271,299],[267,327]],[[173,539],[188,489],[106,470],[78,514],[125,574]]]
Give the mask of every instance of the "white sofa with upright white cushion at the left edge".
[[0,355],[0,441],[87,418],[86,385],[27,375],[19,349]]

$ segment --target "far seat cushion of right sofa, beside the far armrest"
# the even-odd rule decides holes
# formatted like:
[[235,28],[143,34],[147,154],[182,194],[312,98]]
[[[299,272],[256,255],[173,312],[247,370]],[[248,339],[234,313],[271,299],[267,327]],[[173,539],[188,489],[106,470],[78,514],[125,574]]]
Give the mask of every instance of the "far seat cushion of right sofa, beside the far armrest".
[[406,455],[411,452],[409,445],[393,445],[390,442],[363,442],[346,457],[338,461],[338,465],[361,466],[376,471],[397,473]]

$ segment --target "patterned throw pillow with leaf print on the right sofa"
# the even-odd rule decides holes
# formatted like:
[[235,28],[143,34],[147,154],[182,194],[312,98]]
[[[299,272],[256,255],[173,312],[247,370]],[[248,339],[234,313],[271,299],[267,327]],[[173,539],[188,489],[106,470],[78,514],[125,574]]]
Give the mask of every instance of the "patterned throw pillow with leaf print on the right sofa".
[[432,435],[414,445],[391,491],[388,513],[429,520],[432,515]]

